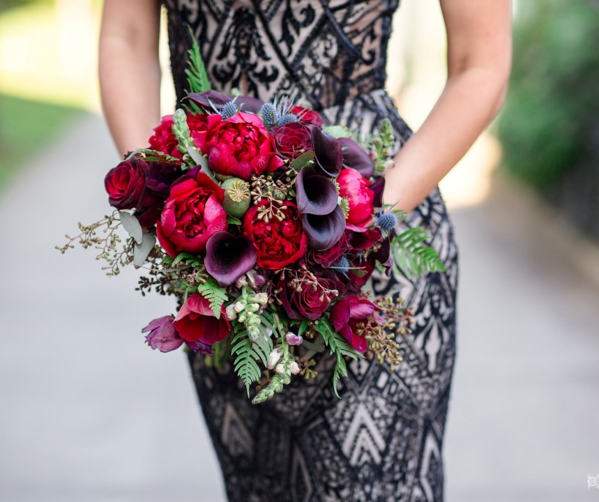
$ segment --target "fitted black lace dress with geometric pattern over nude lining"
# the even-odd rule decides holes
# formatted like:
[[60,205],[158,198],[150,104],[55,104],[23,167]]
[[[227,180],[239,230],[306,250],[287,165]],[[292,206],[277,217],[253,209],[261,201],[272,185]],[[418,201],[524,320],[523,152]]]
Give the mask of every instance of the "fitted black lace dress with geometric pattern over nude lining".
[[[291,94],[326,120],[362,132],[391,119],[400,147],[411,130],[384,91],[397,0],[166,0],[174,84],[185,88],[191,26],[213,89],[269,100]],[[441,501],[441,445],[455,360],[457,248],[439,190],[402,222],[426,227],[446,273],[416,280],[397,266],[373,275],[376,295],[404,296],[414,333],[397,370],[351,363],[333,395],[333,359],[254,406],[230,367],[189,360],[229,501]],[[202,500],[199,496],[198,500]]]

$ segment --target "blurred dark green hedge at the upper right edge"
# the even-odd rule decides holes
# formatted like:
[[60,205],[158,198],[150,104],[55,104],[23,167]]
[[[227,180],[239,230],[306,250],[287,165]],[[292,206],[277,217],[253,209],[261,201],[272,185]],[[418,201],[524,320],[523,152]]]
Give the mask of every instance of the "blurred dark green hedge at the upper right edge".
[[520,0],[506,105],[511,174],[599,237],[599,1]]

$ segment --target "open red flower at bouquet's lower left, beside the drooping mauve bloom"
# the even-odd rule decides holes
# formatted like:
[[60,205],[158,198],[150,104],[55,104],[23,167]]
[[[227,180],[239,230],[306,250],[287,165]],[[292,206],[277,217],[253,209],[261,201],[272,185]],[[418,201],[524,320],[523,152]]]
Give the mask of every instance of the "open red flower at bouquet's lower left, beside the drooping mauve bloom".
[[181,306],[173,325],[185,342],[213,344],[225,340],[231,325],[225,316],[225,306],[220,307],[220,319],[216,319],[210,302],[199,293],[192,294]]

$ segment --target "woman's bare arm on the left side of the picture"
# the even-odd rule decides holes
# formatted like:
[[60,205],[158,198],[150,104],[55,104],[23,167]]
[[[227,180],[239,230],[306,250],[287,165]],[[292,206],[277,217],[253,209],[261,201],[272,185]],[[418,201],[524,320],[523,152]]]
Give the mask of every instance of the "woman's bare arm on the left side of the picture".
[[105,0],[100,30],[100,92],[116,149],[148,144],[160,121],[158,0]]

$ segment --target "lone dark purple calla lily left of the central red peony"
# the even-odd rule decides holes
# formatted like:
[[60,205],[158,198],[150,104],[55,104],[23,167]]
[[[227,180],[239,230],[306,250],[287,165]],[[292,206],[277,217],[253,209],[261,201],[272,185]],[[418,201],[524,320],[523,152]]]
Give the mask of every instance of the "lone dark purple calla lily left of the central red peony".
[[220,286],[229,286],[256,264],[257,250],[245,236],[220,231],[206,243],[206,271]]

